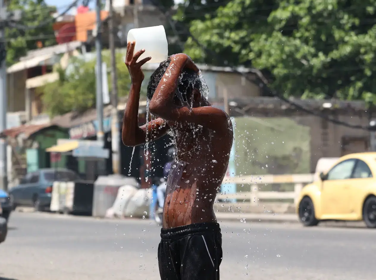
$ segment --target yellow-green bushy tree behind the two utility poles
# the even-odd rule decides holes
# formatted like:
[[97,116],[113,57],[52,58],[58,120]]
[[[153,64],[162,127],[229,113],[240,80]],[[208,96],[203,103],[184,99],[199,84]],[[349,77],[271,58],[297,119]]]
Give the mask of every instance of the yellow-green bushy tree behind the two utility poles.
[[[103,55],[109,70],[109,56]],[[119,97],[127,96],[130,88],[130,77],[123,62],[123,55],[117,54],[117,83]],[[59,80],[38,88],[46,113],[56,116],[70,111],[83,112],[96,104],[96,60],[85,62],[83,59],[72,58],[71,69],[67,73],[56,67]],[[108,71],[109,72],[109,71]],[[111,77],[108,73],[109,91],[111,92]]]

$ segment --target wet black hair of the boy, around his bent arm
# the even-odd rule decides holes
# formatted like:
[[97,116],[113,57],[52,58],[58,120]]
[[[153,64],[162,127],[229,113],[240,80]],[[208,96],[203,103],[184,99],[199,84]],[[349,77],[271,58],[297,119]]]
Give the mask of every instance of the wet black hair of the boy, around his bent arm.
[[[165,74],[167,67],[170,65],[170,62],[170,57],[168,57],[167,60],[162,61],[159,64],[159,67],[150,76],[150,81],[147,85],[147,99],[151,100],[153,98],[155,90]],[[199,75],[191,69],[184,69],[180,75],[179,84],[177,85],[177,91],[182,94],[183,99],[186,101],[194,88],[200,90],[201,87],[202,84]]]

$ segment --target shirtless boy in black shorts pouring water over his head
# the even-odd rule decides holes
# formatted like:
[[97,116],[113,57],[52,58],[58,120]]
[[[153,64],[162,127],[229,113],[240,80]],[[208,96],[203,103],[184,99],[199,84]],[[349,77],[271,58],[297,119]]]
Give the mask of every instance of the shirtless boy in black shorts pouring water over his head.
[[[229,162],[233,134],[224,111],[203,96],[199,69],[179,53],[161,62],[147,88],[156,119],[138,126],[144,74],[136,62],[144,50],[127,46],[132,85],[123,119],[124,145],[136,146],[173,132],[174,162],[167,179],[163,228],[158,247],[162,280],[218,280],[222,236],[213,204]],[[134,53],[134,54],[133,54]],[[180,77],[180,78],[179,78]]]

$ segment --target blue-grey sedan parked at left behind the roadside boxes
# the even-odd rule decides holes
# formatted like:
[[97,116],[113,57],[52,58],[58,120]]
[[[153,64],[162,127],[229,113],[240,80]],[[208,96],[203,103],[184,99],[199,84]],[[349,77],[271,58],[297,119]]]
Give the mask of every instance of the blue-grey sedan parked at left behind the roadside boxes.
[[50,207],[54,181],[76,181],[79,176],[68,169],[39,169],[27,173],[20,184],[9,191],[13,209],[17,206],[33,206],[36,211]]

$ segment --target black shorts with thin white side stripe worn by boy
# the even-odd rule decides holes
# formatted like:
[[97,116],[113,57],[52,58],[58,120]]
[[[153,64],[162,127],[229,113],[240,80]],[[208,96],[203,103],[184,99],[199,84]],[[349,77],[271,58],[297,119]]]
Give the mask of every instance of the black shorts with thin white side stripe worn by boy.
[[219,280],[222,234],[217,223],[161,230],[158,263],[161,280]]

